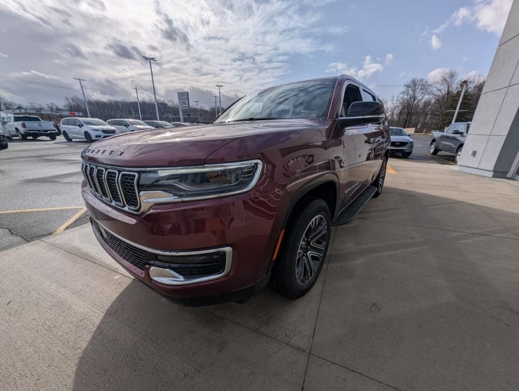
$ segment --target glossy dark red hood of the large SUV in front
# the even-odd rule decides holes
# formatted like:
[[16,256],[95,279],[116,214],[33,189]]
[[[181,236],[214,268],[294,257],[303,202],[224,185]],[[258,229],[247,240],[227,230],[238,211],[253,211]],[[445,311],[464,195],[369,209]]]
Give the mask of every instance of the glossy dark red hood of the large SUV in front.
[[223,145],[254,134],[304,131],[316,120],[284,119],[139,130],[90,144],[81,156],[92,163],[120,167],[174,167],[203,165]]

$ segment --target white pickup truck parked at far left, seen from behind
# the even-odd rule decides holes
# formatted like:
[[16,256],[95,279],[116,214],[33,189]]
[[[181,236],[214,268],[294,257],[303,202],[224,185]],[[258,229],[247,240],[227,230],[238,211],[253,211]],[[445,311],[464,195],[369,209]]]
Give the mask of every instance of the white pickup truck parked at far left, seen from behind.
[[46,136],[51,140],[56,140],[58,130],[53,122],[42,121],[37,115],[26,114],[7,114],[2,118],[4,129],[7,130],[11,139],[19,137],[20,140],[27,140],[28,137],[37,139],[40,136]]

